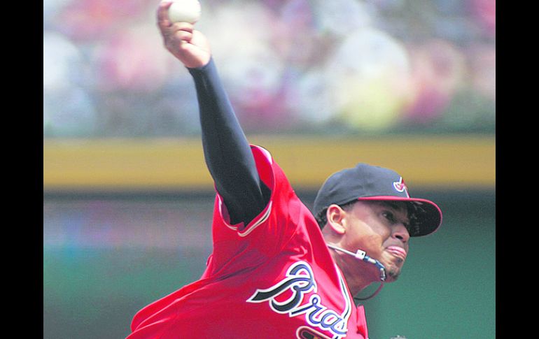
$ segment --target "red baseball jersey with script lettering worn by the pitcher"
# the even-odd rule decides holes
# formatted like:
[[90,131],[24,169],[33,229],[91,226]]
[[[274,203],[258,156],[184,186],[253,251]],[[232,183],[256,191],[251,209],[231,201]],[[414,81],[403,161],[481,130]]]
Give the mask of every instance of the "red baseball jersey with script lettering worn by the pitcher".
[[127,339],[365,339],[356,306],[309,209],[267,150],[251,146],[272,195],[232,225],[217,194],[214,248],[200,280],[146,306]]

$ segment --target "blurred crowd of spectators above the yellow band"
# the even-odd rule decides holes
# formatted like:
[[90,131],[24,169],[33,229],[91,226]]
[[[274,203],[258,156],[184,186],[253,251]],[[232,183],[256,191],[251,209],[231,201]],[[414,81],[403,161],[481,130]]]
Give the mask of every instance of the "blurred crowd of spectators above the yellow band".
[[[159,0],[43,1],[43,136],[199,132]],[[248,134],[486,133],[496,0],[200,0]]]

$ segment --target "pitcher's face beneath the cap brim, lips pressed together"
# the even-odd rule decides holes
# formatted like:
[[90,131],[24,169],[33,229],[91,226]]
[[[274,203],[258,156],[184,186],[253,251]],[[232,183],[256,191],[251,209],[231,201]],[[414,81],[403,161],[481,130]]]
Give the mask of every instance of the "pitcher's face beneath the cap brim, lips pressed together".
[[386,267],[387,282],[396,280],[409,248],[405,203],[358,201],[347,212],[347,218],[347,249],[367,252]]

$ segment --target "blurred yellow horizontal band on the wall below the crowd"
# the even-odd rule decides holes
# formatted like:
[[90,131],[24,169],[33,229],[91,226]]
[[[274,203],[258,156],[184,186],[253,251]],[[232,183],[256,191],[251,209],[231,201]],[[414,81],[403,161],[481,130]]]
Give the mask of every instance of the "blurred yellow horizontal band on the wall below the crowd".
[[[496,141],[489,137],[374,140],[250,136],[298,189],[318,188],[357,162],[392,168],[414,189],[493,188]],[[43,140],[43,189],[211,189],[199,138]]]

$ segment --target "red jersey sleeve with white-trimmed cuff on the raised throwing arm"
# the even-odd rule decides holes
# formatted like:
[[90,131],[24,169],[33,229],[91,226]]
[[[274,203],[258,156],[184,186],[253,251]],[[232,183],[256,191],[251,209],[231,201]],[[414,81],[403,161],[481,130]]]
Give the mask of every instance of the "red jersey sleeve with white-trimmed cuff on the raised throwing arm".
[[272,155],[255,145],[251,145],[251,150],[260,179],[271,189],[269,202],[248,224],[231,224],[223,199],[216,195],[212,225],[214,251],[204,277],[217,272],[232,274],[274,257],[295,236],[298,225],[306,219],[304,214],[310,215]]

